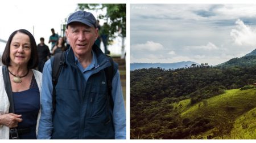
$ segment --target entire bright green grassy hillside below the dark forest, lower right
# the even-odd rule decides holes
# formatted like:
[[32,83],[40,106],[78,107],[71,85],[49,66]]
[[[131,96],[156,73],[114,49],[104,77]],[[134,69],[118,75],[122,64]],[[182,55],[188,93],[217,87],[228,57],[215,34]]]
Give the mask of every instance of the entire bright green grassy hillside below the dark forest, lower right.
[[[205,132],[192,136],[194,138],[256,138],[255,114],[251,113],[253,111],[255,113],[255,110],[251,110],[255,107],[255,88],[248,90],[226,90],[225,93],[220,96],[212,97],[206,99],[204,102],[196,103],[188,110],[183,111],[181,113],[181,118],[183,118],[183,120],[187,119],[190,121],[200,116],[201,119],[205,119],[205,124],[202,124],[201,126],[205,126],[209,129]],[[248,112],[248,115],[245,114],[246,112]],[[254,120],[251,119],[253,118],[253,115]],[[247,118],[247,122],[243,120],[245,118]],[[244,133],[246,135],[236,136],[237,132],[241,132],[239,131],[241,130],[241,124],[248,124],[253,121],[254,125],[247,125],[248,131],[245,131]],[[234,129],[233,124],[235,125]],[[253,129],[254,135],[248,133]]]

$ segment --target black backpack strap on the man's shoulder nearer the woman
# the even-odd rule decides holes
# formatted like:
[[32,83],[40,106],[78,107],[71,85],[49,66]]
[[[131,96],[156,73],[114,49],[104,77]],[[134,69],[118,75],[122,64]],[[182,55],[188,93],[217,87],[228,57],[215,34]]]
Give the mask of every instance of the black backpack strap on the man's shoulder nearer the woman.
[[53,90],[52,90],[52,107],[53,111],[55,110],[56,107],[56,89],[55,86],[58,82],[58,78],[60,76],[60,72],[62,70],[62,67],[65,63],[65,51],[61,51],[60,53],[56,53],[53,57],[51,58],[51,65],[52,65],[52,85],[53,85]]

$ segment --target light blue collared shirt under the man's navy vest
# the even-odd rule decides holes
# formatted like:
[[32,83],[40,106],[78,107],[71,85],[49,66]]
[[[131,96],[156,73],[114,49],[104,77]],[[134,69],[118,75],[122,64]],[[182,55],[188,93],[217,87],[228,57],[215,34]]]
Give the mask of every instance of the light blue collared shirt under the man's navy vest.
[[[94,51],[92,52],[92,62],[85,69],[81,66],[79,60],[75,57],[76,65],[83,73],[85,81],[88,80],[93,70],[97,68],[98,62]],[[39,122],[39,139],[49,139],[52,136],[52,66],[51,60],[48,60],[44,65],[43,77],[42,77],[42,97],[41,107],[42,113]],[[126,111],[125,103],[123,101],[122,86],[119,71],[115,73],[112,81],[112,98],[114,101],[113,109],[113,123],[115,128],[115,139],[126,139]]]

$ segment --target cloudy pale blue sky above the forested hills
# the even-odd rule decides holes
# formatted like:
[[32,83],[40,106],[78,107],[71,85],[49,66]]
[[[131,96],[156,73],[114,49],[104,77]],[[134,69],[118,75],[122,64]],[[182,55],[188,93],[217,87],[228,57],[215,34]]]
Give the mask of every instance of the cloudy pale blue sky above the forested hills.
[[256,49],[256,5],[132,4],[130,60],[216,65]]

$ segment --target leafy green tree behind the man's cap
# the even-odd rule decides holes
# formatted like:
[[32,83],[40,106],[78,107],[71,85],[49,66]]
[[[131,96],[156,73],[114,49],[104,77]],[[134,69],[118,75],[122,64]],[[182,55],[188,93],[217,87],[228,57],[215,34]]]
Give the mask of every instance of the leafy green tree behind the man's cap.
[[[105,15],[99,15],[98,19],[108,21],[109,42],[115,38],[115,33],[126,37],[126,4],[84,4],[79,3],[80,10],[102,10],[106,8]],[[108,42],[108,44],[109,44]]]

